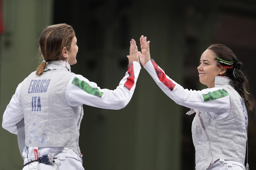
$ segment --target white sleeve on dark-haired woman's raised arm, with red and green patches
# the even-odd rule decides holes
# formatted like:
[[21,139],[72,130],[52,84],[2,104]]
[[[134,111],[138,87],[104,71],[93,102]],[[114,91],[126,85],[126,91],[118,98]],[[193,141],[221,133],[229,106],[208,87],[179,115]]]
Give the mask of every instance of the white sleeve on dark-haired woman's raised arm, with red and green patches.
[[207,88],[200,91],[184,89],[170,79],[153,59],[148,61],[144,68],[161,90],[179,105],[213,113],[224,113],[230,109],[230,97],[223,88]]

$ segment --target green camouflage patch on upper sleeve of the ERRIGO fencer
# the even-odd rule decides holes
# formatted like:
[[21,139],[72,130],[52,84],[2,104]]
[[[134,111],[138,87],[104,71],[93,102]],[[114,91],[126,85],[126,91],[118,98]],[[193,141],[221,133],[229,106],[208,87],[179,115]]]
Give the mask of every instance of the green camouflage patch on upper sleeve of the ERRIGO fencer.
[[79,80],[77,77],[74,77],[74,79],[72,80],[72,84],[94,96],[98,96],[101,98],[101,96],[103,95],[103,92],[101,92],[98,88],[91,87],[87,82]]

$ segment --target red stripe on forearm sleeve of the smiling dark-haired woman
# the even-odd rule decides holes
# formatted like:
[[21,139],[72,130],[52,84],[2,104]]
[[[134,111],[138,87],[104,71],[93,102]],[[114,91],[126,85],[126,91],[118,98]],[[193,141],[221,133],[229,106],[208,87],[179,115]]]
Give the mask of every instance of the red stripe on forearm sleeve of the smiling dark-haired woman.
[[156,74],[158,79],[171,91],[173,91],[175,84],[166,78],[166,75],[164,74],[164,72],[158,67],[158,65],[155,63],[155,61],[153,59],[151,59],[151,62],[156,70]]

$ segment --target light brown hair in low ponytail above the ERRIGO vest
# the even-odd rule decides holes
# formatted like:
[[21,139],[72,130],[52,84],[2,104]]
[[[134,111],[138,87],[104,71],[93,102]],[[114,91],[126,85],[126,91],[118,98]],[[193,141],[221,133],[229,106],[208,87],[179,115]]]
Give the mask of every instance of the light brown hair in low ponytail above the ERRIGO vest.
[[[62,23],[46,27],[39,38],[39,51],[43,59],[48,62],[51,60],[62,60],[61,50],[66,47],[70,49],[72,39],[75,36],[72,26]],[[47,64],[42,62],[37,70],[36,75],[40,76],[44,72]]]

